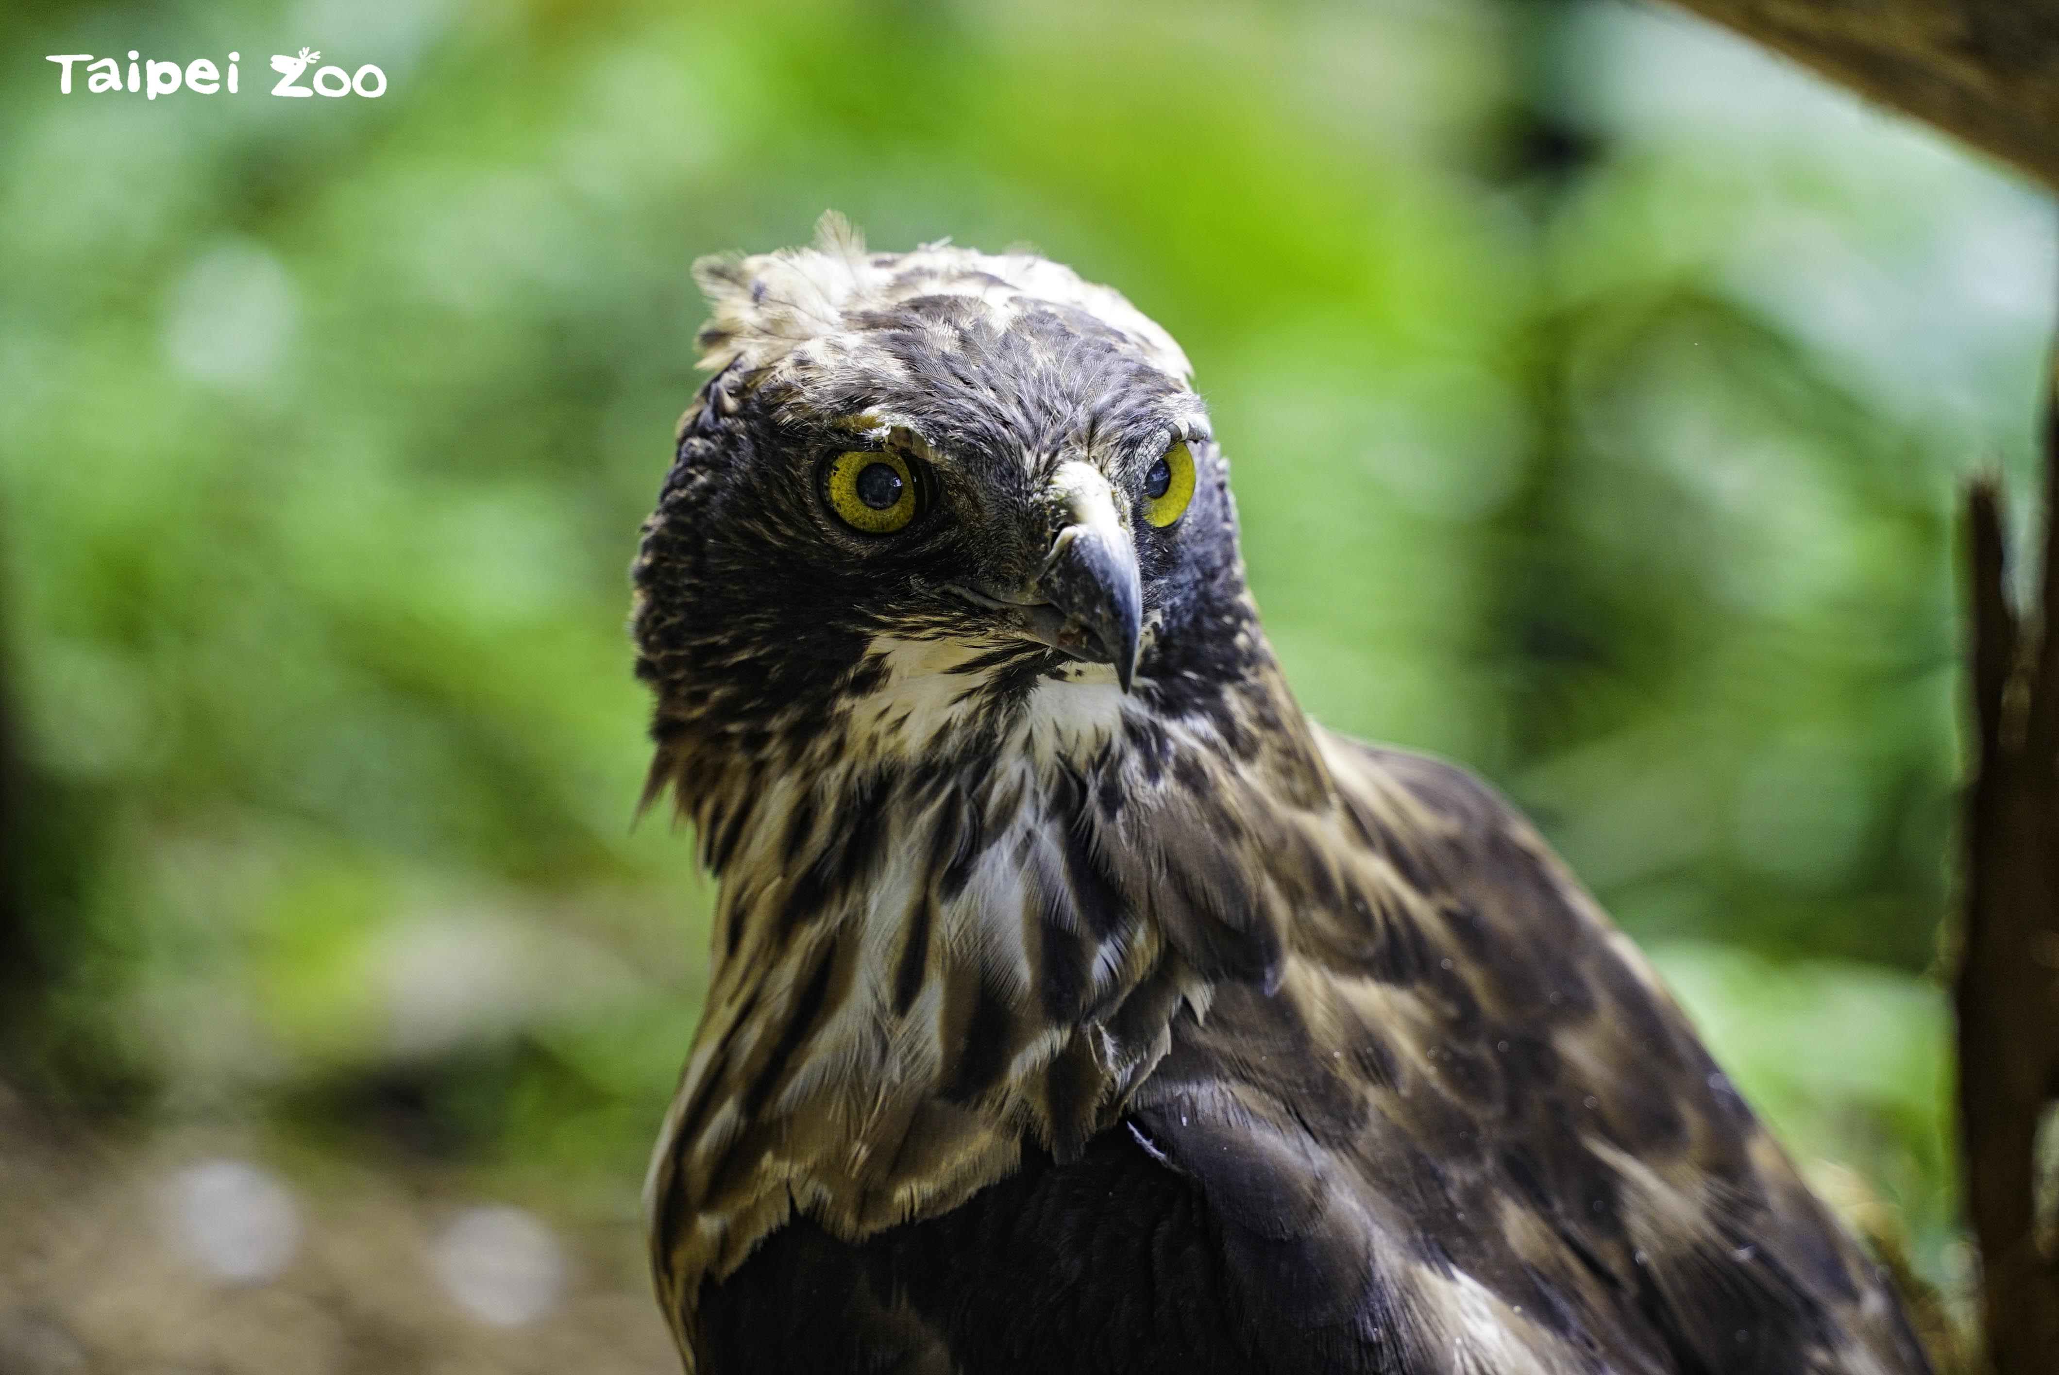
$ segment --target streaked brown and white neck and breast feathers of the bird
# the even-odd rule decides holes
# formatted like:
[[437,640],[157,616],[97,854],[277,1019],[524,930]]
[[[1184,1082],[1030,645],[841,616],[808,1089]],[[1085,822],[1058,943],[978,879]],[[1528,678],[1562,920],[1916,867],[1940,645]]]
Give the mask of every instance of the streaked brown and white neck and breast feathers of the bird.
[[721,879],[649,1184],[679,1321],[795,1206],[861,1237],[955,1206],[1025,1138],[1077,1153],[1182,1009],[1279,978],[1281,906],[1240,856],[1332,792],[1270,657],[1182,714],[1091,673],[966,710],[1009,669],[968,663],[875,644],[807,735],[661,731],[653,778]]

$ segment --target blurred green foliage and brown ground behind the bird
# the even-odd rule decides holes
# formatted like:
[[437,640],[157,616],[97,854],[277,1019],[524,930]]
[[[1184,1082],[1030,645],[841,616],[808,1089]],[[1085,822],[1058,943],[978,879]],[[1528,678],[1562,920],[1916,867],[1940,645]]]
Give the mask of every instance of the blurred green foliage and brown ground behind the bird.
[[[43,54],[243,56],[239,97]],[[266,56],[379,64],[268,95]],[[1526,805],[1962,1295],[1954,490],[2053,208],[1604,2],[0,14],[0,1371],[669,1369],[710,889],[626,564],[700,253],[1027,241],[1186,346],[1332,727]]]

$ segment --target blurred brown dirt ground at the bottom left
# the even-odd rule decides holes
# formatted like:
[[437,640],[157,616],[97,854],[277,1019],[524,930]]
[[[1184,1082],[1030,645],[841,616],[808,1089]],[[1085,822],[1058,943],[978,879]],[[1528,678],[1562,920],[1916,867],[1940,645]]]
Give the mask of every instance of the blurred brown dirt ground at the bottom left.
[[675,1375],[638,1233],[111,1142],[0,1087],[0,1375]]

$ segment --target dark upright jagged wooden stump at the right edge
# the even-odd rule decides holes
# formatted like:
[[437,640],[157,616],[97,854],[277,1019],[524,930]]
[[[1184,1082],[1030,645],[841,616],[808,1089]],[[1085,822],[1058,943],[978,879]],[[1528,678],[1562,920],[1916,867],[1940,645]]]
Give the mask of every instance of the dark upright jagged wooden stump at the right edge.
[[[2045,490],[2059,492],[2059,373]],[[2036,1132],[2059,1107],[2059,519],[2045,515],[2043,607],[2016,613],[1991,482],[1968,500],[1975,762],[1966,786],[1958,1116],[1995,1375],[2059,1361],[2059,1256],[2038,1247]]]

